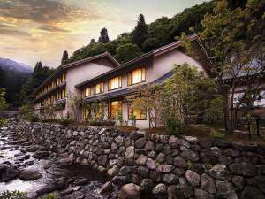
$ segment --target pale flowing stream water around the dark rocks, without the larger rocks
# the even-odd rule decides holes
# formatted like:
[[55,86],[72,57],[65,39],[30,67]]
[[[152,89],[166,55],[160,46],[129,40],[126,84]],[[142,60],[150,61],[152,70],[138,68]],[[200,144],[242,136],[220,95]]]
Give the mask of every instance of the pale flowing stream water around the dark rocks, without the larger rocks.
[[[10,129],[0,129],[0,165],[13,165],[19,170],[30,169],[37,170],[42,173],[42,178],[33,181],[23,181],[19,178],[10,180],[8,182],[0,182],[0,193],[4,190],[19,190],[27,192],[29,197],[36,197],[36,192],[47,187],[49,184],[62,183],[69,184],[68,188],[64,188],[59,192],[65,192],[65,190],[74,190],[71,194],[64,195],[62,198],[117,198],[117,194],[112,193],[108,196],[102,196],[98,194],[99,188],[107,181],[105,175],[97,172],[87,166],[72,165],[67,168],[57,166],[57,157],[50,155],[45,159],[35,159],[33,152],[27,152],[29,144],[11,144]],[[26,142],[27,143],[27,142]],[[87,185],[76,186],[74,182],[87,179]],[[67,186],[66,186],[67,187]]]

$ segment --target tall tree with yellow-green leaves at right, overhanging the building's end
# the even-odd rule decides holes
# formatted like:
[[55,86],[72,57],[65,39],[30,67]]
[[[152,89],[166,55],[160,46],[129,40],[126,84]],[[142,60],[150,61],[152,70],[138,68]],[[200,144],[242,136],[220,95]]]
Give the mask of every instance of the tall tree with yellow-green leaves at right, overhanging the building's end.
[[[201,22],[204,27],[201,38],[208,53],[215,59],[213,73],[219,81],[220,92],[227,99],[223,109],[228,132],[233,132],[235,125],[232,111],[235,108],[233,102],[239,77],[246,76],[249,86],[243,89],[244,95],[239,97],[237,108],[247,96],[257,96],[252,95],[256,92],[254,90],[261,89],[261,74],[265,68],[264,8],[264,1],[249,0],[245,9],[231,9],[222,0],[216,4],[214,13],[206,14]],[[258,79],[255,79],[255,83],[250,83],[253,75],[258,76]],[[228,78],[229,83],[226,82]],[[254,102],[255,99],[251,100]]]

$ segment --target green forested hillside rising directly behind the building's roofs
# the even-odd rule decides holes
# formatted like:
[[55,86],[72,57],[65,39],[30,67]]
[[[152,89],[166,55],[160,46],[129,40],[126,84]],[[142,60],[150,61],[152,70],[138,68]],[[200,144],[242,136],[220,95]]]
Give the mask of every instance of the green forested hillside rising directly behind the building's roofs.
[[75,50],[69,59],[64,57],[63,63],[77,61],[105,51],[110,52],[120,63],[125,63],[134,57],[140,56],[142,53],[174,42],[176,40],[175,37],[182,32],[190,34],[200,31],[200,22],[203,16],[207,12],[212,13],[214,6],[215,3],[213,1],[205,2],[187,8],[172,18],[162,17],[156,19],[151,24],[146,24],[144,16],[140,14],[133,32],[120,34],[117,39],[110,41],[107,29],[103,28],[98,42],[92,39],[87,46]]

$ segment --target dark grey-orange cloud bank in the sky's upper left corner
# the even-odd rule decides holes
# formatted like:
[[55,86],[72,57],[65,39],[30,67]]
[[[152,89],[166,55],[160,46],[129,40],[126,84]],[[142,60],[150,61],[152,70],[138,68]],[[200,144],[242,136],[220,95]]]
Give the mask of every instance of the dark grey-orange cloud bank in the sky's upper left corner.
[[27,19],[38,23],[99,18],[92,6],[87,11],[58,0],[7,0],[0,2],[0,16],[11,19]]

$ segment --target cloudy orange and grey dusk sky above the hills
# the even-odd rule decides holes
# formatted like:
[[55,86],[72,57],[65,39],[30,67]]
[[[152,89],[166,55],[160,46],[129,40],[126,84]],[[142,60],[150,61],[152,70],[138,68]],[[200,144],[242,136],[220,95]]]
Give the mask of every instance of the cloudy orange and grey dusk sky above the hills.
[[57,67],[63,51],[87,45],[102,27],[110,39],[146,22],[172,17],[204,0],[0,0],[0,57]]

